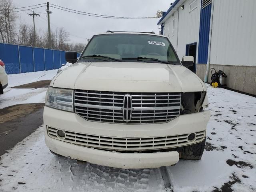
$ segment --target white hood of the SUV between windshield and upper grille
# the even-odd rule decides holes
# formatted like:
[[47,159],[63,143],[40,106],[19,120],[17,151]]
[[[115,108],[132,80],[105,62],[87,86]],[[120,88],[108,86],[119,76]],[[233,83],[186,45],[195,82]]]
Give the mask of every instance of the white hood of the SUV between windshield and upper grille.
[[50,86],[115,92],[206,91],[202,80],[184,66],[146,62],[75,63]]

